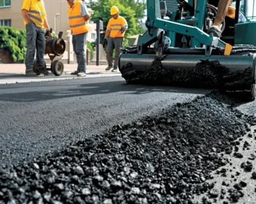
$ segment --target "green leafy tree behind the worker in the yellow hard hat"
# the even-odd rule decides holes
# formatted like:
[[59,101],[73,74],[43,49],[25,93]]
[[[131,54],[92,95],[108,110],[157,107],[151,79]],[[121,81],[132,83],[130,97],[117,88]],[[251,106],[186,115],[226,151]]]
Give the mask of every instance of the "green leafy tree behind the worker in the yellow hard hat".
[[139,3],[135,0],[98,0],[97,2],[90,1],[90,8],[94,11],[91,19],[96,22],[97,20],[103,21],[103,29],[106,29],[110,15],[110,8],[117,6],[119,8],[119,14],[123,16],[129,26],[126,32],[126,36],[131,36],[139,33],[143,33],[140,27],[139,20],[143,17],[143,12],[146,5]]

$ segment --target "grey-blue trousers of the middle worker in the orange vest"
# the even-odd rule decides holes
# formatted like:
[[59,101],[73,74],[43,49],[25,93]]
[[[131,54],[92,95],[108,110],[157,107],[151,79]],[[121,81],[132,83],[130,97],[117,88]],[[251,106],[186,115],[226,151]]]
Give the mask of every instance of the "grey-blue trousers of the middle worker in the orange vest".
[[87,33],[72,36],[72,44],[77,59],[77,71],[86,72],[86,38]]

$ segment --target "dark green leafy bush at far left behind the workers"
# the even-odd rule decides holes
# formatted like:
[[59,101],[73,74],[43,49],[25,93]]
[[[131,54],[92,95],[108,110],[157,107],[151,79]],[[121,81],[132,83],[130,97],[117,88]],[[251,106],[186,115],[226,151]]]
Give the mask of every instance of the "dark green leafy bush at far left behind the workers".
[[24,61],[26,56],[26,31],[0,26],[0,49],[10,53],[13,61]]

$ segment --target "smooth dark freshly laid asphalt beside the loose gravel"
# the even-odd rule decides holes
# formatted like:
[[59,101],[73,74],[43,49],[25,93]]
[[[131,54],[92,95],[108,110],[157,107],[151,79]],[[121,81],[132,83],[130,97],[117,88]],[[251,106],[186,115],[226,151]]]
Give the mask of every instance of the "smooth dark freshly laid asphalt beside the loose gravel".
[[127,85],[120,76],[1,85],[1,163],[53,152],[207,92]]

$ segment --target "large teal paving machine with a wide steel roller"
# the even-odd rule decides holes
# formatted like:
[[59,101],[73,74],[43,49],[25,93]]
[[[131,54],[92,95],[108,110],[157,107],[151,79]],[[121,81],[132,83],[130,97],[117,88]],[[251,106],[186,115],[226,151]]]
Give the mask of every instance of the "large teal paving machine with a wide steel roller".
[[121,53],[122,77],[127,83],[218,88],[254,100],[256,22],[247,20],[246,4],[233,2],[217,38],[207,30],[218,8],[206,0],[147,0],[147,31]]

